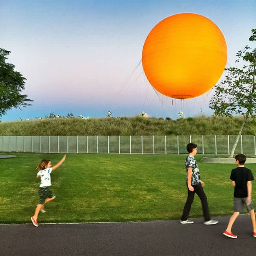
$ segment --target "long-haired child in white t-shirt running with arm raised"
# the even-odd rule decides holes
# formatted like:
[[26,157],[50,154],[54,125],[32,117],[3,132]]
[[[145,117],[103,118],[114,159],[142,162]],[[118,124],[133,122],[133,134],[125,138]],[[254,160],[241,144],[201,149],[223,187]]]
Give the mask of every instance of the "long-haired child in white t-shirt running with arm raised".
[[64,155],[59,163],[57,163],[53,167],[51,167],[52,163],[50,160],[43,159],[37,166],[37,169],[39,169],[39,172],[37,173],[37,178],[41,178],[41,184],[38,189],[39,204],[37,204],[37,207],[35,208],[35,214],[31,217],[31,221],[36,227],[38,227],[37,216],[39,211],[45,213],[44,204],[48,203],[56,197],[56,195],[54,195],[54,193],[52,193],[52,191],[50,191],[49,189],[49,187],[52,185],[50,174],[53,170],[57,169],[65,161],[65,159],[66,155]]

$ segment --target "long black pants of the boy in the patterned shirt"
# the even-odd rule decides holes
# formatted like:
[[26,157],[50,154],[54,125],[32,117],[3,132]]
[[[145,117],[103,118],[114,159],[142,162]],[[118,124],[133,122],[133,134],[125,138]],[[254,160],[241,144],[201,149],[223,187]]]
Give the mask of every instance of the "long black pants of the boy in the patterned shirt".
[[194,185],[193,186],[194,191],[190,191],[187,187],[187,201],[184,205],[184,209],[183,209],[183,213],[182,213],[182,217],[181,220],[182,221],[186,221],[189,215],[189,211],[191,208],[191,204],[194,201],[194,196],[195,193],[198,195],[198,197],[201,200],[202,203],[202,209],[203,209],[203,213],[204,213],[204,221],[210,221],[210,213],[209,213],[209,207],[208,207],[208,202],[207,202],[207,197],[204,193],[204,189],[201,185],[201,183]]

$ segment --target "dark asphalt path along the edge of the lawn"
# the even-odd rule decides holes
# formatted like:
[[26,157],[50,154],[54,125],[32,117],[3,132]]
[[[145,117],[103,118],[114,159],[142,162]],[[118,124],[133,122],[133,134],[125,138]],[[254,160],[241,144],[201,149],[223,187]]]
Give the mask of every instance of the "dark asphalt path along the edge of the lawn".
[[223,236],[229,217],[206,226],[173,221],[8,224],[0,225],[0,255],[255,255],[256,238],[248,214],[240,215],[232,232]]

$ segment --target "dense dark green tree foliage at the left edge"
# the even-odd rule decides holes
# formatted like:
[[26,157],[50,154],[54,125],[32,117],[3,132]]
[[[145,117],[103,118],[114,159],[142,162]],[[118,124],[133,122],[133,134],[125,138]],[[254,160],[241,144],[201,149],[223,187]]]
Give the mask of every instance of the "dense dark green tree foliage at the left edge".
[[25,80],[19,72],[15,71],[15,66],[6,63],[6,56],[10,51],[0,48],[0,117],[6,114],[11,108],[20,108],[20,106],[31,106],[27,95],[22,95],[21,91],[25,89]]

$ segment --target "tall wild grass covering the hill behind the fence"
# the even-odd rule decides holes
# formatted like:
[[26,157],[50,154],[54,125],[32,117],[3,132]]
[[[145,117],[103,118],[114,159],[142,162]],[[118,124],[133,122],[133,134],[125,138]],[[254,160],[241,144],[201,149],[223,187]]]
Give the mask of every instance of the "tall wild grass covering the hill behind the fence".
[[[0,123],[0,136],[39,135],[237,135],[242,117],[188,117],[163,120],[155,117],[111,117],[91,119],[43,119]],[[255,123],[243,135],[256,134]]]

